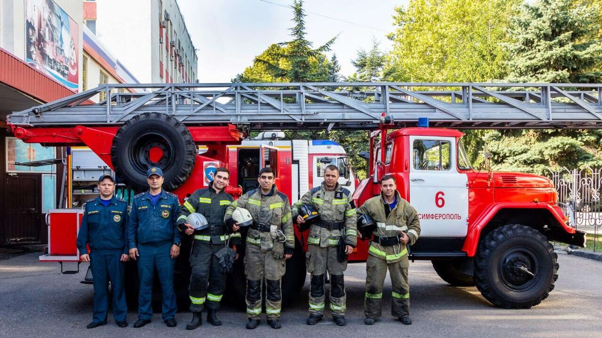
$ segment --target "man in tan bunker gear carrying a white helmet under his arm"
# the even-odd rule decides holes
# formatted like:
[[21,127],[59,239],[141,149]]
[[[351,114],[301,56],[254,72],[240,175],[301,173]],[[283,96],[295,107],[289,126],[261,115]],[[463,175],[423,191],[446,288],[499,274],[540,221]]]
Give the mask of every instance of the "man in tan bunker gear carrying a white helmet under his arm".
[[261,318],[261,286],[265,283],[265,313],[272,328],[280,328],[282,307],[281,279],[285,260],[294,252],[294,230],[287,195],[274,185],[271,168],[259,171],[259,188],[234,201],[226,210],[226,223],[235,224],[232,212],[237,207],[249,210],[253,224],[246,227],[244,274],[247,277],[247,328],[259,325]]

